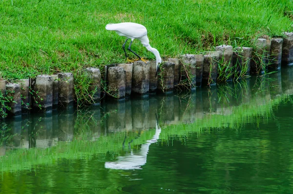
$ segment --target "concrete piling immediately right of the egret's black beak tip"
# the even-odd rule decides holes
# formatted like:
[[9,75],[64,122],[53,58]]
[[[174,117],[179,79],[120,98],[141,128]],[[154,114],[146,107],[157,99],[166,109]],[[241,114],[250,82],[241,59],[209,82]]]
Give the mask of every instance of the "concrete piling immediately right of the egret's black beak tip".
[[160,75],[158,75],[158,92],[164,94],[173,93],[174,66],[174,62],[164,62],[161,64]]

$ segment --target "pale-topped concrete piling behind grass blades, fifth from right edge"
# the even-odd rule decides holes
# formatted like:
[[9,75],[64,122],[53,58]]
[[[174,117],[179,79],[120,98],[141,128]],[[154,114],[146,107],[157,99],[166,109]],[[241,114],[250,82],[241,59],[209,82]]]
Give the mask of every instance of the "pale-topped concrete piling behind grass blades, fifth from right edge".
[[216,51],[220,52],[219,63],[221,68],[223,69],[223,74],[220,72],[218,76],[226,77],[229,76],[227,80],[231,80],[232,76],[230,76],[233,68],[232,64],[232,55],[233,55],[233,47],[230,45],[220,45],[216,46]]

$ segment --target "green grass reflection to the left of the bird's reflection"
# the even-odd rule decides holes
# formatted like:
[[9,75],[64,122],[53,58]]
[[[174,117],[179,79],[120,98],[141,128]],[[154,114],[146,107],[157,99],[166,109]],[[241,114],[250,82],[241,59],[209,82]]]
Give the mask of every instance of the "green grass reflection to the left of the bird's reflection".
[[136,138],[137,132],[119,132],[102,135],[97,141],[87,140],[88,135],[81,130],[81,134],[76,135],[71,142],[59,141],[57,146],[41,149],[16,149],[7,150],[6,155],[0,157],[0,171],[18,171],[31,169],[34,165],[55,163],[61,158],[65,159],[90,159],[94,155],[105,155],[108,151],[115,157],[122,150],[122,143],[133,140],[131,146],[143,144],[147,139],[151,139],[154,131],[147,131]]

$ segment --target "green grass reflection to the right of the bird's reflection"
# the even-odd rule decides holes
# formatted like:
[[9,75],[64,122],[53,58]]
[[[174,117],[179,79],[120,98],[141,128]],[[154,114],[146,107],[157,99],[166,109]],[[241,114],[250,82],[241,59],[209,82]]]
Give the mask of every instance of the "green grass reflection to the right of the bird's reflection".
[[[289,97],[282,97],[268,101],[265,105],[259,105],[257,98],[251,100],[250,104],[242,104],[238,107],[230,107],[230,115],[211,114],[203,119],[198,119],[192,124],[178,124],[162,127],[160,139],[168,139],[169,135],[187,136],[189,132],[202,132],[223,127],[239,127],[244,123],[260,122],[260,119],[267,120],[272,116],[272,107],[278,105],[282,100]],[[252,117],[253,116],[253,117]],[[256,119],[256,120],[255,120]]]

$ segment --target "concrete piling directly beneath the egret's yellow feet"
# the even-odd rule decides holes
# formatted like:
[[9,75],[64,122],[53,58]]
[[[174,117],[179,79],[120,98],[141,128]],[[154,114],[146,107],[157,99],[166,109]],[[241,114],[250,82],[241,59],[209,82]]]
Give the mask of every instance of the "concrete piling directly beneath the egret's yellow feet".
[[135,61],[132,69],[131,95],[148,96],[149,61]]

